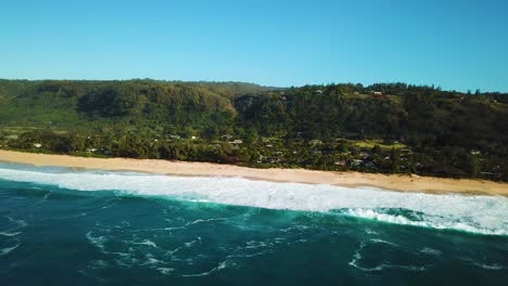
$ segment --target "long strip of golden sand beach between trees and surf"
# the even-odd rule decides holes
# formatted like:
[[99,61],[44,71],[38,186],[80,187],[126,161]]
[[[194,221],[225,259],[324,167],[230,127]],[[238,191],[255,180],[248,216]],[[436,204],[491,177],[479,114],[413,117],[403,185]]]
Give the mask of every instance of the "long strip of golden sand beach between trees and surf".
[[336,172],[306,169],[256,169],[213,162],[169,161],[160,159],[89,158],[0,150],[0,161],[33,166],[136,171],[168,176],[243,177],[251,180],[330,184],[347,187],[370,186],[398,192],[460,193],[508,196],[508,183],[472,179],[446,179],[419,176]]

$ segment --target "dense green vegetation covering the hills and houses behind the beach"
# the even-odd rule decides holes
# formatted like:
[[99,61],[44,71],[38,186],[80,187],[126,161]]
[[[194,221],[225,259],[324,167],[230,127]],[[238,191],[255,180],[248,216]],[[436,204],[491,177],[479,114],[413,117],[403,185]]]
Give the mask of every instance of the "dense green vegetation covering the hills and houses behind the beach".
[[508,181],[508,94],[0,80],[3,148]]

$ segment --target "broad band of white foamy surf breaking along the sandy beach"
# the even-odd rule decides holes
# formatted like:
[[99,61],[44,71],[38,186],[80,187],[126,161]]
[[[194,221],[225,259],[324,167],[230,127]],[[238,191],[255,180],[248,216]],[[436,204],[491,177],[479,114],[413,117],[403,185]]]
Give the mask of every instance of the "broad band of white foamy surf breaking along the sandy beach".
[[[130,195],[168,196],[269,209],[321,212],[340,209],[347,216],[389,223],[508,235],[506,197],[402,193],[372,187],[275,183],[243,178],[90,171],[52,173],[45,172],[43,169],[0,168],[0,179],[78,191],[119,191]],[[385,209],[403,209],[419,214],[415,219],[386,213]]]

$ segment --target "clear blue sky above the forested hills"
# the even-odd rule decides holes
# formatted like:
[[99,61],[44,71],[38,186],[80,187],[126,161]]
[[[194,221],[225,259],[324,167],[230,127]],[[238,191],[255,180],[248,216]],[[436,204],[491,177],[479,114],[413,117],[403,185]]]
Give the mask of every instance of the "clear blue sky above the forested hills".
[[506,0],[2,0],[0,78],[508,91]]

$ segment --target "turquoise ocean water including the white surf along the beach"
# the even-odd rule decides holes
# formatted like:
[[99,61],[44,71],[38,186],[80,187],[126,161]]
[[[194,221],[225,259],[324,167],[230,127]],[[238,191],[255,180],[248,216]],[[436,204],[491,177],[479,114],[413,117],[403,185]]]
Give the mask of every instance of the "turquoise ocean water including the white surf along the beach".
[[0,285],[506,285],[508,200],[0,165]]

